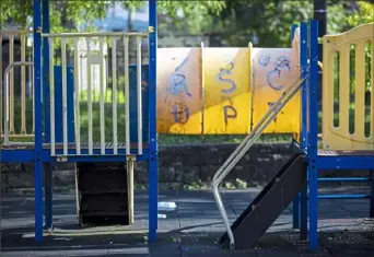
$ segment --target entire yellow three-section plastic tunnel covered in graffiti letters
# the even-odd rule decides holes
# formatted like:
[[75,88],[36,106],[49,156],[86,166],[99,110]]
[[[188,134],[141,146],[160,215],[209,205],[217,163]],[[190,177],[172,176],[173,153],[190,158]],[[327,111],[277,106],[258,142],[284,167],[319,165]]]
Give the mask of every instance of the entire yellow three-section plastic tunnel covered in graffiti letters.
[[[157,131],[248,133],[250,124],[258,124],[271,104],[297,80],[296,49],[159,49]],[[297,131],[299,94],[266,129]]]

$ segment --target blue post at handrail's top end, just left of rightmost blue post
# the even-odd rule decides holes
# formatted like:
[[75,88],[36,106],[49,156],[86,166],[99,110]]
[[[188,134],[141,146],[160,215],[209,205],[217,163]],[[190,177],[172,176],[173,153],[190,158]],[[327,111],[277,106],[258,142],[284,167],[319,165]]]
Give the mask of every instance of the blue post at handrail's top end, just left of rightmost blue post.
[[[300,65],[301,65],[301,77],[306,78],[307,73],[307,23],[303,22],[300,27]],[[307,83],[304,82],[302,85],[302,127],[301,127],[301,149],[307,149]],[[307,237],[307,185],[302,189],[301,192],[301,238],[306,240]]]

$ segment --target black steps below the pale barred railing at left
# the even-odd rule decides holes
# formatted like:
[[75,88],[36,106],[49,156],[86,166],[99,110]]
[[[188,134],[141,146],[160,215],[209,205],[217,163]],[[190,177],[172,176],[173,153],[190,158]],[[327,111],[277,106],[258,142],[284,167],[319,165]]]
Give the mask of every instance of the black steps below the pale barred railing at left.
[[129,224],[125,163],[77,163],[81,224]]

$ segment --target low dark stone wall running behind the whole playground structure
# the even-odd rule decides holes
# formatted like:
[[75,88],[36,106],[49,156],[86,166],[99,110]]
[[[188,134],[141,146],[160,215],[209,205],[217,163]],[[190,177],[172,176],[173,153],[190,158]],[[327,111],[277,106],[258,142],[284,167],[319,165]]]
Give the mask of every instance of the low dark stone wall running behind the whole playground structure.
[[[214,173],[235,150],[237,144],[196,144],[161,147],[159,157],[159,182],[190,185],[210,184]],[[264,186],[291,156],[290,143],[255,144],[238,162],[224,183],[235,184],[237,179],[247,186]],[[2,164],[2,188],[32,188],[34,186],[33,164]],[[329,172],[323,176],[337,176]],[[340,176],[366,176],[364,172],[344,172]],[[137,163],[137,184],[148,184],[147,162]],[[74,164],[59,163],[54,166],[54,187],[74,187]]]

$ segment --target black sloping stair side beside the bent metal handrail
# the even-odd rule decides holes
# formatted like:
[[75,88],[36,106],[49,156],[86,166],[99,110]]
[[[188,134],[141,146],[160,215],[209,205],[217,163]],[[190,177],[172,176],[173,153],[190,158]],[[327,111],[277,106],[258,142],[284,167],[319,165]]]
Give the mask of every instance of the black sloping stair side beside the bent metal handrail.
[[[306,162],[295,153],[231,225],[235,248],[253,247],[304,186]],[[227,233],[219,243],[223,248],[230,247]]]

